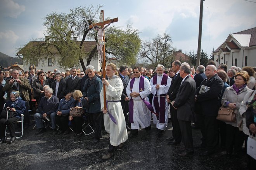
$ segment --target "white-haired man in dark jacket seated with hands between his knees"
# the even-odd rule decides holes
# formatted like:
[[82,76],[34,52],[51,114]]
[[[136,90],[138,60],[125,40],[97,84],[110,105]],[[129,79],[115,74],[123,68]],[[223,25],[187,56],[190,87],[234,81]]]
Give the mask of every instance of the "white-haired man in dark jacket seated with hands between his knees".
[[36,129],[38,130],[36,132],[36,135],[44,133],[44,123],[42,119],[47,120],[47,116],[51,119],[51,125],[52,129],[54,131],[54,134],[56,133],[56,123],[55,123],[55,115],[56,111],[58,109],[59,105],[59,99],[52,95],[53,90],[52,88],[46,88],[45,89],[45,97],[42,97],[40,104],[38,106],[38,112],[34,115],[35,121],[36,121]]

